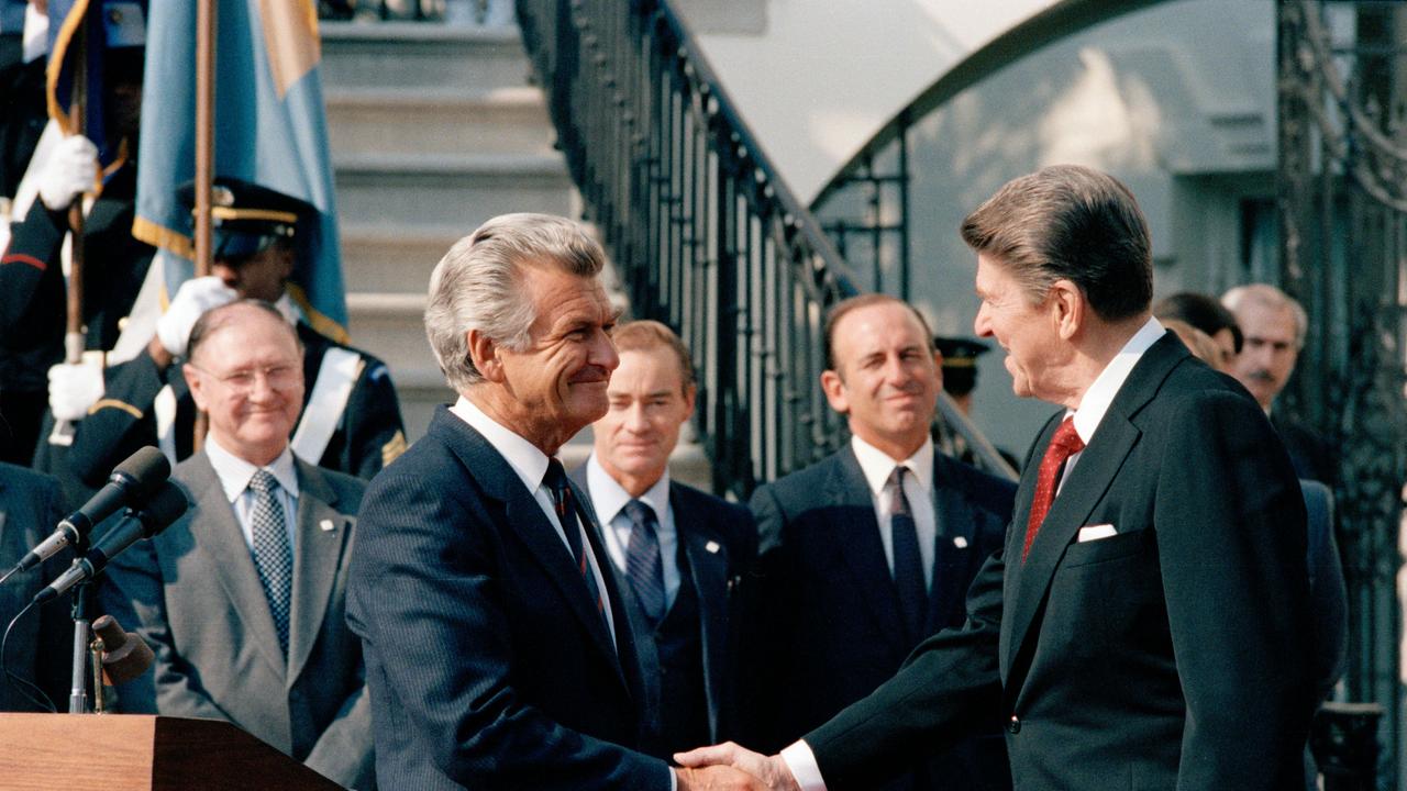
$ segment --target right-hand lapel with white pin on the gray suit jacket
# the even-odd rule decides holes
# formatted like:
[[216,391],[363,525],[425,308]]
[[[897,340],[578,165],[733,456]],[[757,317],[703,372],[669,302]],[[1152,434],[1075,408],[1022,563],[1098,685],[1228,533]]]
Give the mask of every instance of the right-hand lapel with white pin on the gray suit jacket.
[[288,678],[303,673],[322,631],[352,519],[338,512],[336,493],[310,464],[298,470],[298,515],[293,542],[293,607],[288,624]]

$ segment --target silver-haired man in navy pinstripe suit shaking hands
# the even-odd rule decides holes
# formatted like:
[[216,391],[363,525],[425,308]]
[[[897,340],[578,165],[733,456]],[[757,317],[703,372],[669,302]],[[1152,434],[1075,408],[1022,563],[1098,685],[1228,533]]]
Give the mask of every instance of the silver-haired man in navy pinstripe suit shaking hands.
[[553,457],[606,411],[604,262],[575,222],[508,214],[431,276],[426,334],[460,398],[371,481],[348,584],[381,788],[757,788],[639,752],[620,587]]

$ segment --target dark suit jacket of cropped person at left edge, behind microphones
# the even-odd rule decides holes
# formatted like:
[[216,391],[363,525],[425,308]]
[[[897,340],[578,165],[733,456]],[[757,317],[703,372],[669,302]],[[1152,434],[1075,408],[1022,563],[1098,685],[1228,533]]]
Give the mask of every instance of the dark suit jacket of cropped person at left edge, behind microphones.
[[[0,463],[0,573],[8,571],[35,545],[49,538],[63,518],[59,481],[32,470]],[[30,604],[34,594],[63,573],[73,552],[63,550],[46,563],[21,571],[0,586],[0,632]],[[31,609],[10,632],[6,669],[38,684],[59,711],[68,711],[69,670],[73,663],[73,622],[69,598]],[[0,678],[0,711],[42,711],[14,685]]]

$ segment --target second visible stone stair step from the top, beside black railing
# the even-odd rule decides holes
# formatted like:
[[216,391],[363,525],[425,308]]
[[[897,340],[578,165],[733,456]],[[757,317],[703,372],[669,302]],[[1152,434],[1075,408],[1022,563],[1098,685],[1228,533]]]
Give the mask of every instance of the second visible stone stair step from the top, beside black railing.
[[502,87],[345,87],[325,91],[333,158],[395,153],[552,153],[542,91]]

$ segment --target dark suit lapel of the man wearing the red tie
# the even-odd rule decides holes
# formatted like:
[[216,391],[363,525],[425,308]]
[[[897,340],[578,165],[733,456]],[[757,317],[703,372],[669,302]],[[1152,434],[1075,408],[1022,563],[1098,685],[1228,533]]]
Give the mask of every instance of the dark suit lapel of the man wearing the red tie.
[[[1171,332],[1150,346],[1133,372],[1128,373],[1128,379],[1124,380],[1099,422],[1099,428],[1095,429],[1095,436],[1055,495],[1024,563],[1020,560],[1020,546],[1026,535],[1038,464],[1033,464],[1029,474],[1023,476],[1021,488],[1017,493],[1020,511],[1014,518],[1019,529],[1013,531],[1012,542],[1007,546],[1007,555],[1013,563],[1007,564],[1012,578],[1006,584],[1010,615],[1002,629],[1003,677],[1010,671],[1016,653],[1029,638],[1031,622],[1045,600],[1051,577],[1065,555],[1065,548],[1069,546],[1075,533],[1085,525],[1100,498],[1109,491],[1124,459],[1138,443],[1141,432],[1130,422],[1130,418],[1158,393],[1168,373],[1188,356],[1186,349],[1176,341],[1169,342],[1169,338],[1172,338]],[[1041,432],[1041,455],[1045,453],[1057,424],[1058,419],[1052,418],[1045,431]],[[1013,550],[1016,555],[1012,555]]]

